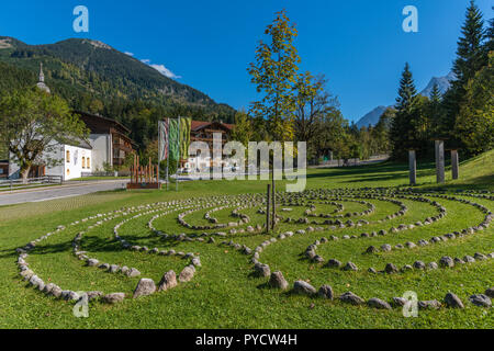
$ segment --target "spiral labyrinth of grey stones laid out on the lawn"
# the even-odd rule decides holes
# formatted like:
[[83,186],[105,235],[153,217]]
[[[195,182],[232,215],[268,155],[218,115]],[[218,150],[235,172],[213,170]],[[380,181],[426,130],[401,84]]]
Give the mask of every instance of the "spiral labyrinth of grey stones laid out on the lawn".
[[[420,308],[492,306],[493,193],[382,188],[307,190],[277,193],[276,199],[272,234],[266,234],[263,194],[98,213],[61,224],[18,248],[20,275],[52,298],[115,304],[179,286],[193,288],[197,276],[207,279],[203,264],[221,264],[215,256],[229,254],[249,269],[239,280],[284,296],[392,309],[407,304],[402,295],[415,288],[427,297],[418,301]],[[59,247],[57,254],[64,260],[53,264],[66,264],[80,274],[60,275],[58,282],[49,265],[37,271],[40,263],[31,259],[42,260],[38,253],[54,247]],[[122,261],[126,258],[139,268]],[[159,281],[144,278],[155,262],[170,263],[175,270],[164,270]],[[474,271],[482,280],[470,279]],[[435,279],[440,278],[448,281],[446,295],[435,292]],[[459,278],[461,288],[454,291]],[[111,281],[102,284],[108,291],[92,288],[100,279]],[[119,286],[114,281],[137,280],[135,288],[113,290]],[[404,284],[407,280],[414,283]]]

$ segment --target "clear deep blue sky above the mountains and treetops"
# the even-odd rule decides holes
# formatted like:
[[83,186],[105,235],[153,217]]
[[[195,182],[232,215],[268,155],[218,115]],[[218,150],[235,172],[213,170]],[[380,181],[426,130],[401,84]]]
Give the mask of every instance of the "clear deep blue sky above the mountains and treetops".
[[[0,35],[27,44],[90,37],[165,66],[178,81],[234,107],[256,95],[247,67],[274,12],[296,23],[301,70],[324,73],[345,117],[392,104],[405,61],[417,88],[446,76],[468,0],[53,0],[2,1]],[[485,19],[492,0],[476,0]],[[89,33],[75,33],[72,10],[89,9]],[[405,33],[405,5],[418,9],[418,33]]]

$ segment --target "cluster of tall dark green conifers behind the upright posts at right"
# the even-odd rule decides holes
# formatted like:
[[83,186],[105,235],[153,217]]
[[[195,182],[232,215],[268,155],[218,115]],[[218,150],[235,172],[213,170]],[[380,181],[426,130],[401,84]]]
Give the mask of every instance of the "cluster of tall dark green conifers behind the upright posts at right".
[[456,79],[442,95],[434,87],[430,97],[417,94],[408,64],[402,73],[396,105],[386,112],[391,118],[389,138],[394,159],[405,159],[408,149],[430,157],[433,140],[445,139],[465,157],[494,146],[494,21],[487,27],[472,0],[458,41],[452,71]]

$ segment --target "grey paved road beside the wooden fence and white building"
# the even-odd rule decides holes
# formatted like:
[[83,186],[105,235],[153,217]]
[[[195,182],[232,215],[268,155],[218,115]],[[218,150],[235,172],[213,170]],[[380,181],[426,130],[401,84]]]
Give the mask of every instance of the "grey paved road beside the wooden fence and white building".
[[127,180],[92,181],[65,184],[61,186],[49,186],[47,189],[16,191],[13,193],[0,193],[0,206],[21,204],[25,202],[41,202],[85,195],[98,191],[122,189],[123,184],[125,184]]

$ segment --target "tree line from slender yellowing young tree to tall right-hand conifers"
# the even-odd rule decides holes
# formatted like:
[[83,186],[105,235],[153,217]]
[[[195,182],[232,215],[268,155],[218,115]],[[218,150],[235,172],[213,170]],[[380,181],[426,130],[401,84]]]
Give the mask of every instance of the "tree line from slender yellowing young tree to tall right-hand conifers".
[[248,140],[306,141],[307,159],[318,163],[329,152],[335,158],[367,159],[391,154],[405,160],[408,149],[419,157],[434,155],[434,139],[459,148],[464,157],[494,146],[494,21],[485,25],[471,0],[458,41],[452,71],[456,79],[441,94],[417,93],[408,64],[402,72],[398,97],[375,126],[358,128],[341,114],[337,97],[322,75],[300,72],[301,57],[294,45],[295,25],[285,11],[278,12],[256,49],[248,72],[261,99],[235,115],[233,138]]

